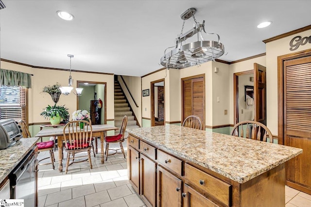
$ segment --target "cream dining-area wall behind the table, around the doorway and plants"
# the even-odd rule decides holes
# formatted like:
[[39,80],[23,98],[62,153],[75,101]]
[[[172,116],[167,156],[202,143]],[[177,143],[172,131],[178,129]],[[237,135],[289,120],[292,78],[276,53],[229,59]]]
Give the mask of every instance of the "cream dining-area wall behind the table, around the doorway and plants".
[[[69,71],[51,70],[32,68],[20,64],[13,64],[1,61],[1,68],[7,70],[16,70],[25,73],[34,74],[32,76],[32,88],[29,89],[28,100],[28,121],[29,123],[42,123],[47,122],[39,114],[49,104],[54,102],[47,93],[42,93],[42,89],[46,85],[53,85],[59,82],[61,85],[68,84]],[[83,72],[71,72],[73,81],[73,87],[76,87],[77,80],[87,81],[100,81],[107,82],[107,119],[114,119],[114,79],[113,75],[93,74]],[[69,114],[77,110],[77,96],[70,94],[68,96],[61,95],[57,105],[66,105],[69,108]]]

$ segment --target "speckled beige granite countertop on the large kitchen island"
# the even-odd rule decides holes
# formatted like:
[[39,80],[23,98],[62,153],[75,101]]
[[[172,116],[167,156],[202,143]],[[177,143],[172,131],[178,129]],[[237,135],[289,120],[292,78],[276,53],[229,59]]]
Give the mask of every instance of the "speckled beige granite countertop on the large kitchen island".
[[129,134],[244,183],[302,153],[302,149],[166,125],[127,129]]

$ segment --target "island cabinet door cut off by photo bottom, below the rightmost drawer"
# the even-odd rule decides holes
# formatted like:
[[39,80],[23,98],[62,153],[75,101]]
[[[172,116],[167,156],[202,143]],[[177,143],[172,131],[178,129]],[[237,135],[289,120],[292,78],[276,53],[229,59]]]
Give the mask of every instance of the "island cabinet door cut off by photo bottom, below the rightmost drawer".
[[218,207],[208,198],[186,184],[184,185],[182,196],[184,197],[183,207]]

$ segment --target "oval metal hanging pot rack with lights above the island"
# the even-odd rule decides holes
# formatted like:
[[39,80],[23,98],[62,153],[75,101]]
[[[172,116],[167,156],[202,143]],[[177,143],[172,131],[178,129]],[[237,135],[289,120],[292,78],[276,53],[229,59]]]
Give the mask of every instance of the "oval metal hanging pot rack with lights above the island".
[[[200,24],[196,21],[194,14],[196,13],[195,8],[190,8],[185,11],[180,17],[184,20],[181,32],[176,38],[176,46],[169,47],[173,48],[170,52],[166,53],[164,50],[164,56],[161,57],[160,62],[166,68],[186,68],[193,65],[199,65],[208,61],[213,61],[221,57],[225,52],[225,46],[220,42],[220,36],[216,33],[205,32],[205,20]],[[183,33],[186,19],[193,17],[194,26],[193,28]],[[204,40],[202,31],[207,34],[216,34],[218,41]],[[185,44],[186,40],[197,34],[197,41]]]

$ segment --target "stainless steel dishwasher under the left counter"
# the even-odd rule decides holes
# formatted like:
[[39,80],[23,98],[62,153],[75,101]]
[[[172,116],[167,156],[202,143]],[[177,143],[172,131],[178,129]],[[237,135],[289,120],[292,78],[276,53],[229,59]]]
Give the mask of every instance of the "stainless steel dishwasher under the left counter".
[[24,199],[24,207],[36,206],[36,160],[35,150],[33,149],[9,175],[10,198]]

